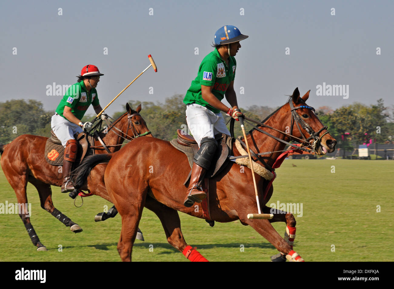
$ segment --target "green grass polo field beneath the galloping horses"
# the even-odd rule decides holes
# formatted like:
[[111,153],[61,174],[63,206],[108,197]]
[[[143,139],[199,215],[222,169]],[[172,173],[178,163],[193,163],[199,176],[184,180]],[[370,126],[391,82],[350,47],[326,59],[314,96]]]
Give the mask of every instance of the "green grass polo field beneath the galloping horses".
[[[393,173],[394,162],[386,160],[285,160],[277,169],[268,205],[278,200],[303,204],[303,216],[296,216],[294,250],[305,261],[392,261]],[[94,222],[95,214],[111,203],[91,196],[76,208],[68,194],[52,187],[55,207],[84,229],[75,234],[41,209],[32,185],[27,191],[32,203],[31,222],[48,251],[36,251],[17,214],[0,214],[0,261],[120,261],[116,249],[120,216]],[[0,171],[0,203],[6,201],[16,203],[16,196]],[[78,197],[77,204],[80,202]],[[239,221],[216,222],[210,227],[204,220],[183,213],[180,219],[186,242],[210,261],[270,261],[269,257],[277,254],[268,241]],[[283,236],[285,224],[273,226]],[[167,243],[154,213],[145,209],[139,227],[146,241],[136,240],[133,261],[188,261]]]

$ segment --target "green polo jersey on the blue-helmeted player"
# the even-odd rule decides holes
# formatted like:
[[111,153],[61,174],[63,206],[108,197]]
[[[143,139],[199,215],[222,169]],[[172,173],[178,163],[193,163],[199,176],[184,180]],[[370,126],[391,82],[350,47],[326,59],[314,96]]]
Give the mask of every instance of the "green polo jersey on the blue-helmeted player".
[[191,82],[190,88],[186,92],[183,102],[185,104],[197,103],[205,106],[214,113],[220,110],[212,107],[201,96],[201,85],[213,86],[212,93],[221,101],[229,87],[230,82],[235,78],[236,61],[233,56],[229,57],[229,66],[221,58],[219,52],[215,48],[210,54],[204,57],[198,69],[195,80]]

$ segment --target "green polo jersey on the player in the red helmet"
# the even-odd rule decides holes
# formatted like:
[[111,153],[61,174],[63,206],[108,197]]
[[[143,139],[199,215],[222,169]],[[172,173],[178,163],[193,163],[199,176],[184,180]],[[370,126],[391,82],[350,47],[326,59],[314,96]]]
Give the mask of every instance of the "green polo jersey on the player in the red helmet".
[[60,116],[63,116],[64,107],[69,106],[71,107],[72,114],[74,114],[76,118],[82,119],[90,104],[93,104],[93,106],[99,105],[97,91],[95,88],[91,88],[90,91],[87,91],[84,81],[81,81],[69,87],[63,99],[61,99],[58,108],[56,108],[56,112]]

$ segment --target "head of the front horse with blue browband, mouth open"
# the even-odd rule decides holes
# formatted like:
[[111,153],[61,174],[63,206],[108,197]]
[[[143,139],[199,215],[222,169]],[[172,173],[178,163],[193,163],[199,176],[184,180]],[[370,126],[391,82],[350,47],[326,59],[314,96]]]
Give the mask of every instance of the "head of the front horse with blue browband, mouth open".
[[[302,138],[318,155],[332,153],[335,150],[336,140],[329,134],[327,127],[323,126],[315,109],[306,104],[309,91],[300,97],[298,88],[289,98],[288,109],[291,114],[290,134]],[[289,111],[287,112],[289,114]]]

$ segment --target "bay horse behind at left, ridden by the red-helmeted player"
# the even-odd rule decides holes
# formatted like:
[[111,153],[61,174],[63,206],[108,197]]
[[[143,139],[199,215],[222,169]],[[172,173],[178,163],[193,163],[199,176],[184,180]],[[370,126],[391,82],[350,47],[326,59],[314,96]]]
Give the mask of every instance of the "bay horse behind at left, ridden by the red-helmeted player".
[[[112,124],[108,123],[108,127],[98,133],[101,140],[95,136],[93,153],[106,154],[108,151],[113,153],[121,148],[124,140],[132,140],[142,134],[151,134],[145,120],[139,114],[140,111],[141,104],[136,110],[132,110],[126,103],[126,112],[114,120]],[[61,186],[63,173],[58,166],[53,166],[45,160],[44,150],[47,139],[43,136],[23,134],[9,144],[0,145],[2,170],[7,181],[15,190],[19,204],[28,203],[26,186],[29,182],[38,191],[41,207],[65,226],[70,227],[72,232],[79,233],[82,228],[53,205],[51,185]],[[104,149],[100,141],[106,145],[108,151]],[[96,166],[91,179],[81,189],[112,202],[104,185],[104,170],[105,166]],[[27,206],[19,213],[37,251],[46,251],[46,247],[40,242],[30,222]]]

